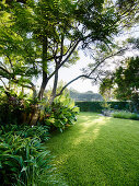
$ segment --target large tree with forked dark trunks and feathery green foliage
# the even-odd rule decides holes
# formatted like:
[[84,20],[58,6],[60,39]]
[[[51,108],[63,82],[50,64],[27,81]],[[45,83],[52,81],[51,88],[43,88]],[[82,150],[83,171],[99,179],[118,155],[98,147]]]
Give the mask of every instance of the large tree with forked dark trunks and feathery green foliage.
[[[99,4],[95,1],[85,0],[78,2],[70,0],[24,1],[22,3],[21,1],[7,2],[10,3],[10,5],[7,7],[7,4],[3,4],[2,11],[9,12],[9,19],[13,23],[9,30],[18,34],[22,40],[19,40],[16,44],[15,37],[13,37],[12,43],[8,38],[8,46],[9,43],[12,45],[12,55],[14,54],[13,58],[11,56],[9,56],[9,58],[11,61],[18,61],[13,48],[18,48],[14,46],[19,46],[21,50],[18,56],[22,58],[22,62],[25,63],[28,69],[31,69],[31,66],[33,66],[33,68],[35,67],[34,70],[37,70],[37,73],[40,71],[43,81],[38,92],[39,100],[43,97],[48,81],[54,75],[53,96],[55,97],[58,70],[69,61],[77,60],[76,49],[79,45],[82,48],[99,43],[108,45],[112,44],[112,34],[117,33],[119,16],[117,16],[113,4],[104,8],[103,0],[101,0]],[[8,28],[5,32],[7,31]],[[5,43],[3,45],[5,45]],[[30,47],[28,51],[25,53],[26,46]],[[8,59],[5,53],[2,55]],[[50,73],[49,65],[51,63],[55,68]],[[19,69],[21,69],[21,66]],[[23,77],[25,77],[25,74],[22,73],[22,78]],[[34,74],[32,77],[34,77]],[[19,81],[16,80],[14,82]]]

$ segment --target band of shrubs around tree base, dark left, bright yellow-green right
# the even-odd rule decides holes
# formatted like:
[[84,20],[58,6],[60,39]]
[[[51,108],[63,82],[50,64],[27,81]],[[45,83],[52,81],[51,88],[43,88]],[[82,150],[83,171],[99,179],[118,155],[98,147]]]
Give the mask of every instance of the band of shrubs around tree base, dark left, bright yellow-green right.
[[[62,131],[66,126],[74,123],[79,112],[68,93],[56,97],[51,105],[47,98],[38,102],[38,100],[16,95],[11,92],[7,94],[4,93],[0,96],[0,123],[5,126],[9,124],[18,126],[23,124],[30,125],[32,124],[34,113],[38,111],[38,118],[33,125],[40,124],[50,128],[59,128]],[[24,130],[26,129],[24,128]]]

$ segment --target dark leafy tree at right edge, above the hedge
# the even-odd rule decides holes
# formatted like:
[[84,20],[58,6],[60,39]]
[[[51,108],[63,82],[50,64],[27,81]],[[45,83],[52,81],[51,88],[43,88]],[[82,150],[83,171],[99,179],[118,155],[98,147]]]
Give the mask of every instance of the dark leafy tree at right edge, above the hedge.
[[101,93],[113,91],[117,100],[131,101],[139,111],[139,57],[128,58],[101,84]]

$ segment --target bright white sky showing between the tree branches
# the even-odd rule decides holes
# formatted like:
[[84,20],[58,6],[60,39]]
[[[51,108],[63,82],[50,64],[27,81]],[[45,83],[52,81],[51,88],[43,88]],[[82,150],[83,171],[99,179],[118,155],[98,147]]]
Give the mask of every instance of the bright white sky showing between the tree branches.
[[[130,31],[127,31],[124,33],[124,35],[120,35],[120,37],[118,37],[118,40],[125,40],[128,37],[138,37],[139,36],[139,27],[134,27]],[[132,54],[132,51],[128,51],[125,57],[131,57],[132,55],[137,55],[137,54]],[[139,53],[138,53],[139,55]],[[79,51],[79,56],[80,56],[80,60],[77,61],[76,65],[73,65],[70,68],[62,68],[59,70],[59,81],[62,80],[63,82],[69,82],[70,80],[74,79],[76,77],[81,74],[81,70],[82,68],[86,67],[89,62],[91,62],[93,59],[91,59],[89,56],[85,56],[83,54],[83,51]],[[124,56],[123,56],[124,57]],[[120,57],[116,57],[116,59],[125,59]],[[112,60],[112,59],[111,59]],[[112,62],[112,61],[111,61]],[[111,65],[112,66],[112,65]],[[53,81],[51,81],[53,82]],[[50,85],[53,84],[50,82]],[[99,93],[99,85],[92,85],[91,80],[85,79],[79,79],[77,81],[74,81],[73,83],[71,83],[68,89],[74,89],[78,92],[86,92],[86,91],[92,91],[94,93]]]

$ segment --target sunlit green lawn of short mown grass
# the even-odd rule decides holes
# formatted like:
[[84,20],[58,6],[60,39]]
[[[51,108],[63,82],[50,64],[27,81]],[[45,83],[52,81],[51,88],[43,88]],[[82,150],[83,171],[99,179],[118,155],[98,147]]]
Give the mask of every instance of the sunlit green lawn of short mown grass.
[[47,142],[69,186],[138,186],[139,121],[80,113]]

